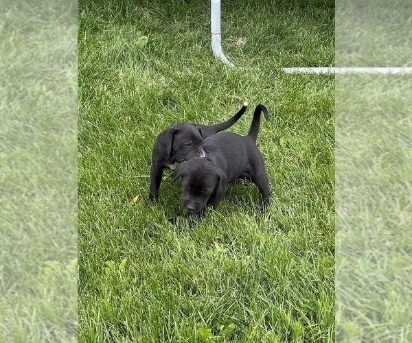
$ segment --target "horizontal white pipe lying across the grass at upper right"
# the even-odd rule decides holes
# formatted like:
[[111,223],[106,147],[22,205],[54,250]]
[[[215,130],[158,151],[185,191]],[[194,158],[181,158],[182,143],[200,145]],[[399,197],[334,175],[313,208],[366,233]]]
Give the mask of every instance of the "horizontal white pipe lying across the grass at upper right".
[[412,67],[313,67],[284,68],[285,73],[310,74],[411,74]]

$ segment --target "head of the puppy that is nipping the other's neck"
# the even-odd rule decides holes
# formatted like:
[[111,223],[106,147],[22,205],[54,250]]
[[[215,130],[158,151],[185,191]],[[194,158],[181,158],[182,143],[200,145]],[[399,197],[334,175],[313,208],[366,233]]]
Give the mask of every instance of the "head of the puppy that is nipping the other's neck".
[[158,149],[170,163],[205,157],[202,130],[193,123],[180,123],[168,127],[157,137]]

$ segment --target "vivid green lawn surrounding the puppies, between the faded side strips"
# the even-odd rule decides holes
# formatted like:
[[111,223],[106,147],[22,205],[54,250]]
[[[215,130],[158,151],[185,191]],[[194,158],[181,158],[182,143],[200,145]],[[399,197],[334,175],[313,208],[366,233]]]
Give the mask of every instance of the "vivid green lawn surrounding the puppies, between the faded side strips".
[[[225,53],[260,68],[240,71],[211,56],[208,1],[80,1],[80,342],[334,341],[334,78],[279,70],[333,64],[334,3],[271,3],[222,4]],[[169,171],[150,204],[157,134],[244,101],[232,132],[259,103],[272,114],[268,210],[236,182],[191,219]]]

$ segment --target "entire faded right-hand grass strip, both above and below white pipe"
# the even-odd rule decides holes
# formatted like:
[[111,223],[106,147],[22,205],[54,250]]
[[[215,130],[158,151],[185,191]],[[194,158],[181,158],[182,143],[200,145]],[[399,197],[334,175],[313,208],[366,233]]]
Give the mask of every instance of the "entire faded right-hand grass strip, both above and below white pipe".
[[[411,1],[336,2],[339,67],[411,67]],[[412,342],[410,75],[336,77],[336,340]]]

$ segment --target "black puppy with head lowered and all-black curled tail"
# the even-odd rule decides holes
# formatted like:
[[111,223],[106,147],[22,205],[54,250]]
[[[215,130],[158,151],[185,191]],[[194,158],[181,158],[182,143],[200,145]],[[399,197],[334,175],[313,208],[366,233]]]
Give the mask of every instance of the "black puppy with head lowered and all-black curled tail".
[[203,141],[207,158],[193,158],[177,165],[174,180],[182,178],[182,204],[189,213],[202,213],[207,204],[216,207],[225,196],[229,182],[246,178],[258,186],[266,205],[271,196],[262,154],[256,146],[260,114],[268,110],[258,105],[247,136],[231,132],[214,134]]

